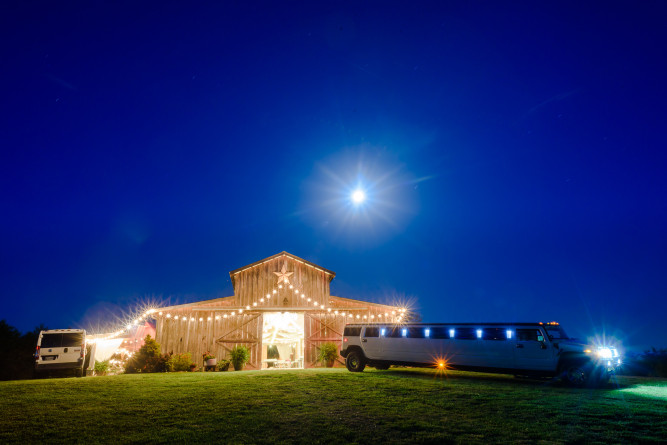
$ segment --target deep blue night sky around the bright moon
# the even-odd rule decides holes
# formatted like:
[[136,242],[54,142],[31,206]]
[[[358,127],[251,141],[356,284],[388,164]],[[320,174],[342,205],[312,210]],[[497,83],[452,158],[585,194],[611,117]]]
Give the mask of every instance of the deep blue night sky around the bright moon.
[[[664,2],[0,5],[0,318],[282,250],[425,321],[667,346]],[[362,184],[360,209],[348,193]]]

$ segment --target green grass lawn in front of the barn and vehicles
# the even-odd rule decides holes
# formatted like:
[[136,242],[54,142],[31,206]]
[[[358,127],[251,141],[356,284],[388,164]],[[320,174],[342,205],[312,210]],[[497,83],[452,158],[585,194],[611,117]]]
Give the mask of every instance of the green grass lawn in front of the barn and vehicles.
[[664,442],[667,381],[616,385],[421,369],[0,382],[0,443]]

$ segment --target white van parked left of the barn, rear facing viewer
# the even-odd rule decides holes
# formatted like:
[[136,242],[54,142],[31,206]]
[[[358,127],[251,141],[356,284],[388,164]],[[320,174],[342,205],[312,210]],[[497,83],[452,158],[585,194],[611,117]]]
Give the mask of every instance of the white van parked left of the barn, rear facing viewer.
[[71,369],[77,377],[81,377],[85,359],[85,330],[52,329],[39,333],[35,350],[36,374]]

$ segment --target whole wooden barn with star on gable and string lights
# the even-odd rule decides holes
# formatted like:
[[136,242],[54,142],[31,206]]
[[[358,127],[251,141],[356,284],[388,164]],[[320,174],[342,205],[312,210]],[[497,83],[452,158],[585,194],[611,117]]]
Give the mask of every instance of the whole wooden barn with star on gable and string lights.
[[[234,296],[164,307],[154,314],[163,352],[219,359],[250,349],[246,369],[311,368],[324,342],[339,346],[345,323],[398,321],[395,306],[334,297],[330,270],[281,252],[229,273]],[[336,366],[343,364],[342,358]]]

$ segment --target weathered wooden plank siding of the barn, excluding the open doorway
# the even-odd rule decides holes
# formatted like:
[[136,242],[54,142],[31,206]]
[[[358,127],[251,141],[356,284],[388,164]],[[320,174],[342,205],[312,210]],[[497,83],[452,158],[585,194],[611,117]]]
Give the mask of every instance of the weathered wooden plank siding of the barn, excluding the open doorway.
[[[289,289],[289,285],[278,287],[278,277],[273,272],[280,272],[285,263],[287,272],[293,272],[289,277],[290,283],[299,293]],[[250,362],[246,369],[261,369],[263,314],[302,312],[304,366],[311,368],[320,366],[317,354],[322,343],[334,342],[340,348],[346,323],[391,321],[394,319],[392,311],[398,314],[393,306],[331,296],[329,283],[333,278],[332,272],[286,253],[239,269],[231,276],[235,292],[233,297],[160,310],[156,316],[156,338],[163,352],[189,352],[193,362],[201,366],[202,354],[206,351],[223,359],[229,356],[234,346],[245,345],[250,349]],[[269,298],[266,298],[267,294]],[[305,298],[301,298],[301,294]],[[240,310],[243,313],[240,314]],[[339,313],[336,314],[336,311]],[[346,316],[342,315],[343,312]],[[344,366],[341,357],[336,366]]]

